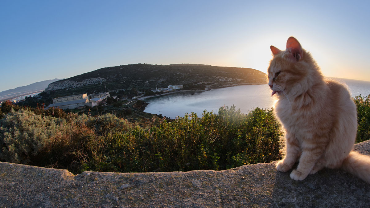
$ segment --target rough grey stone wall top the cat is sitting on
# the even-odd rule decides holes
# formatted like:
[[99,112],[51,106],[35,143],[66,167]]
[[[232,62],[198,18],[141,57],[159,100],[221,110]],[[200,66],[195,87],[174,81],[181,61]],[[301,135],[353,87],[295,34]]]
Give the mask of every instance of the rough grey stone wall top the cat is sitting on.
[[[355,145],[370,155],[370,141]],[[0,163],[1,207],[368,207],[370,185],[342,170],[303,181],[275,162],[224,171],[83,172]]]

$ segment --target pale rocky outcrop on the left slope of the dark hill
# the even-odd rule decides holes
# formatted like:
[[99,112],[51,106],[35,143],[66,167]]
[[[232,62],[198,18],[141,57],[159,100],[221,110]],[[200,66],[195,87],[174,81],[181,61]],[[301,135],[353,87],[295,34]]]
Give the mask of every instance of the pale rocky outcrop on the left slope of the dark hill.
[[105,81],[106,79],[101,78],[101,77],[88,78],[83,81],[61,80],[61,81],[50,83],[48,87],[45,89],[45,91],[82,87],[82,86],[92,85],[92,84],[102,84]]

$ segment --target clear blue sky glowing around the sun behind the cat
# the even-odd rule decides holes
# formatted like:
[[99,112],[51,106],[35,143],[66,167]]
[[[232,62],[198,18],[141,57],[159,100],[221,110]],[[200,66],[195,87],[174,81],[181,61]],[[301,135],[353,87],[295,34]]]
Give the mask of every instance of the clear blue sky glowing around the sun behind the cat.
[[295,36],[330,77],[370,81],[369,1],[0,1],[0,91],[124,64],[266,72]]

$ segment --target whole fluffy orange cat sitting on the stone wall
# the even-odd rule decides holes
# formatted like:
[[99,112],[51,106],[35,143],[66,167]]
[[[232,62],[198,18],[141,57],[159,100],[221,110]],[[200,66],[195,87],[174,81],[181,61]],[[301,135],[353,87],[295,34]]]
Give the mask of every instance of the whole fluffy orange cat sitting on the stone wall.
[[370,157],[352,151],[357,132],[356,105],[346,87],[324,80],[311,54],[294,37],[286,50],[270,47],[269,86],[276,94],[275,115],[285,130],[286,156],[276,168],[303,180],[324,167],[342,168],[370,184]]

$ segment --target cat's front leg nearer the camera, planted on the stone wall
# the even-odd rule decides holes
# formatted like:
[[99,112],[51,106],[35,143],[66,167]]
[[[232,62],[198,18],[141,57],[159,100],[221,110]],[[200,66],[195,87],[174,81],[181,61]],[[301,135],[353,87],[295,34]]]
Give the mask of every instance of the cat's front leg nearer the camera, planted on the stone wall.
[[[306,147],[305,147],[306,146]],[[302,181],[312,171],[315,163],[322,156],[323,145],[303,144],[302,155],[299,159],[297,170],[293,170],[290,178],[296,181]],[[317,172],[317,171],[316,171]]]

